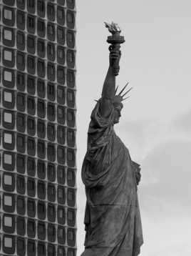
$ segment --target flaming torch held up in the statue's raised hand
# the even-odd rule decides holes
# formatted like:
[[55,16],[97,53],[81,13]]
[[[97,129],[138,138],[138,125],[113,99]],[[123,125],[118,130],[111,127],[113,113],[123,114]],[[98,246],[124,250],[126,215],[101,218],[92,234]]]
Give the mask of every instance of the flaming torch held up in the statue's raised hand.
[[[107,42],[110,44],[109,51],[110,52],[116,52],[120,51],[120,44],[123,44],[125,42],[124,36],[120,36],[120,27],[118,24],[112,22],[111,24],[105,23],[105,27],[108,28],[108,31],[112,34],[112,36],[108,36]],[[119,59],[115,59],[115,62],[113,64],[113,72],[115,76],[118,76],[119,72]]]

